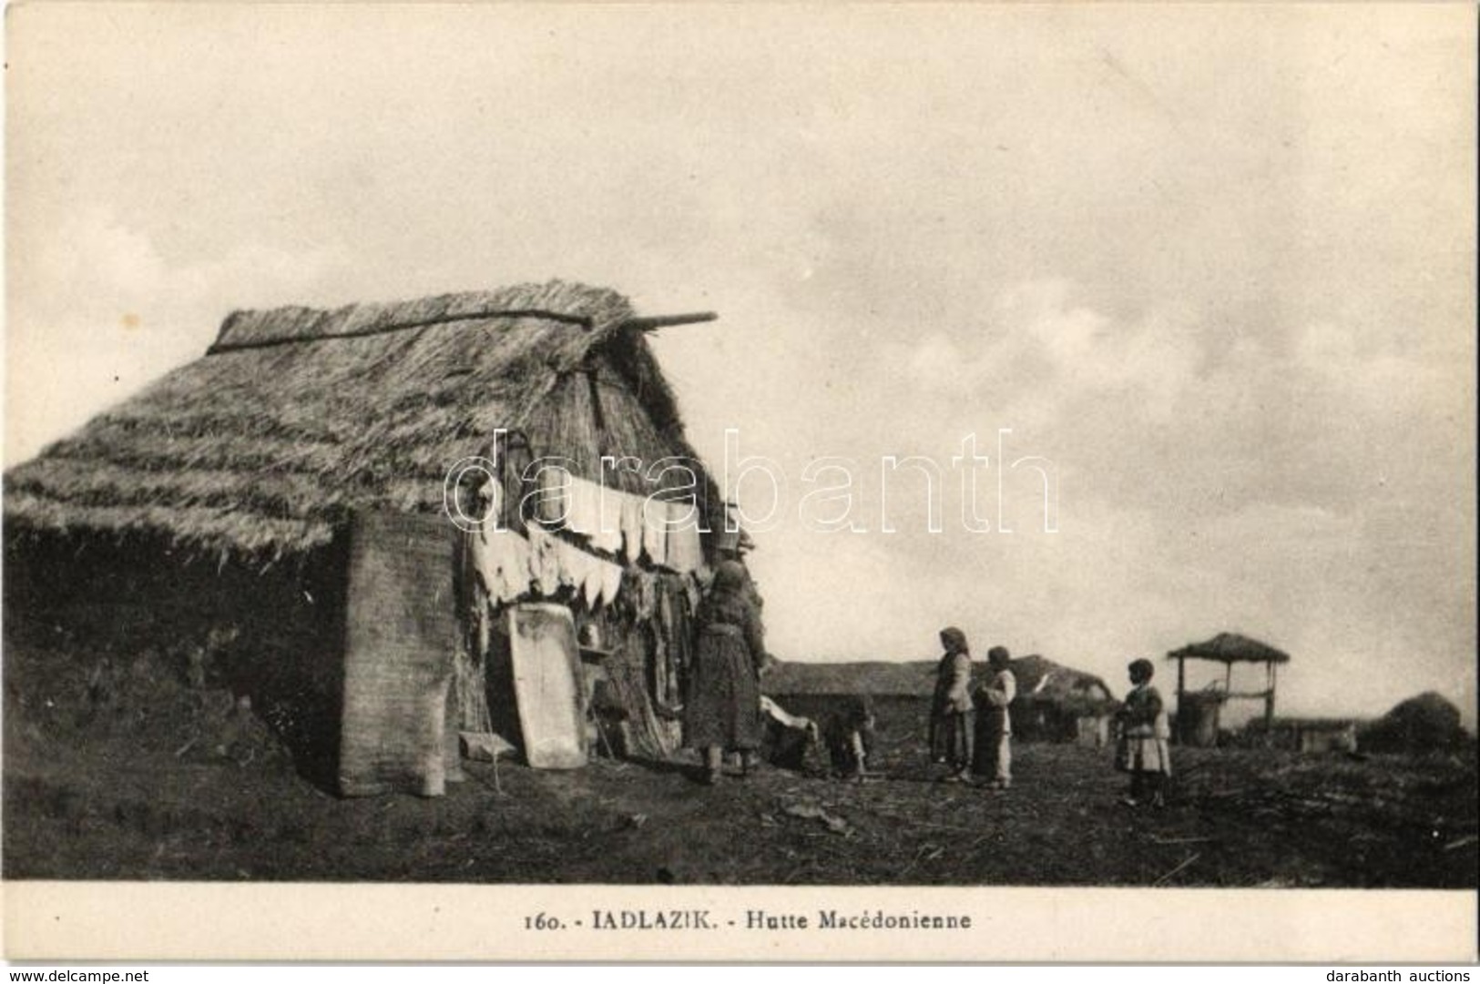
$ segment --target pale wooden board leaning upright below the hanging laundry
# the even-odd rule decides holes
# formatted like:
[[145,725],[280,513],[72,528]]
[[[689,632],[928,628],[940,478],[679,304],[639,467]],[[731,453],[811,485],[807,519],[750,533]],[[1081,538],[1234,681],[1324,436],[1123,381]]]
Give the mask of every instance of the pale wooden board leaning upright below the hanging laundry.
[[585,690],[570,608],[540,602],[509,608],[509,658],[530,766],[573,769],[585,765]]

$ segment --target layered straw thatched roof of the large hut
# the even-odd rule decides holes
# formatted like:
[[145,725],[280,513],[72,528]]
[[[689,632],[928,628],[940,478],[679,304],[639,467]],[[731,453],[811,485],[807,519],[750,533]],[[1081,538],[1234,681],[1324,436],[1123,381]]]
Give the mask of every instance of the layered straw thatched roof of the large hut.
[[559,281],[235,312],[204,358],[7,472],[7,528],[281,556],[329,542],[349,509],[441,509],[447,469],[497,428],[588,478],[601,454],[693,459],[632,317]]

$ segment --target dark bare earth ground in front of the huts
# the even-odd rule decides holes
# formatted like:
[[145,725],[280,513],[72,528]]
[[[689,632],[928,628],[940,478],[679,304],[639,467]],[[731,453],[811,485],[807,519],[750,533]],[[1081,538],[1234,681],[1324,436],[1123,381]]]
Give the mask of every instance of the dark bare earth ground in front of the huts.
[[1018,744],[1005,793],[937,783],[898,701],[864,783],[505,759],[441,799],[349,801],[228,694],[151,684],[99,706],[81,667],[31,656],[6,654],[7,879],[1474,888],[1480,867],[1473,744],[1178,749],[1168,806],[1132,809],[1109,749]]

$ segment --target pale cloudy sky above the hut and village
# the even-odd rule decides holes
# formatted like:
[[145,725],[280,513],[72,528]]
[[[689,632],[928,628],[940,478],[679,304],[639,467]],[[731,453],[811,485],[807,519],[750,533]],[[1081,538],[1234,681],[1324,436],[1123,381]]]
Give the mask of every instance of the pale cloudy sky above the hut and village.
[[[715,471],[733,429],[784,479],[731,488],[776,506],[781,658],[931,658],[958,624],[1119,692],[1236,630],[1292,656],[1282,712],[1437,690],[1474,727],[1471,6],[6,27],[6,466],[237,308],[610,286],[719,314],[653,345]],[[891,456],[938,465],[941,531]],[[855,530],[821,531],[839,502],[804,497],[844,474]]]

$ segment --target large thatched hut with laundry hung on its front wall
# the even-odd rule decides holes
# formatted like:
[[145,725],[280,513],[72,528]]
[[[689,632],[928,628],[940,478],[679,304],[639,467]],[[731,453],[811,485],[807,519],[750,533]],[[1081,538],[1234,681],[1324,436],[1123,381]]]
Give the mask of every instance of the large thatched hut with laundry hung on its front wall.
[[[216,630],[232,639],[219,672],[281,724],[305,765],[371,792],[400,780],[369,764],[345,781],[345,716],[366,710],[355,701],[404,698],[398,713],[422,732],[410,758],[426,758],[429,728],[499,727],[518,709],[500,707],[491,669],[496,610],[556,601],[599,639],[586,684],[622,719],[628,750],[666,755],[684,619],[716,546],[707,530],[722,525],[644,337],[673,321],[559,281],[235,312],[204,358],[6,474],[7,623],[90,620],[99,647],[188,648]],[[496,474],[448,487],[469,456]],[[613,543],[531,515],[542,479],[528,465],[549,457],[613,494],[697,508],[697,549],[675,561],[676,549],[632,550],[630,536]],[[662,460],[687,471],[650,468]],[[478,534],[444,512],[475,496],[503,528],[543,537],[604,584],[593,592],[562,568],[493,590],[471,556]],[[379,727],[397,721],[369,710]]]

